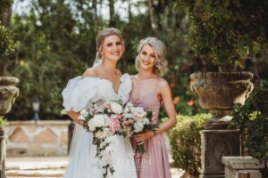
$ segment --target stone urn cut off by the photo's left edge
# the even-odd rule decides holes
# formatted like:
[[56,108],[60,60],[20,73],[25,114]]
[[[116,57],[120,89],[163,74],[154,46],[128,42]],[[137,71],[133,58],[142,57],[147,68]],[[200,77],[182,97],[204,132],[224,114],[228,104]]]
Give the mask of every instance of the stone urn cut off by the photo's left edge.
[[20,90],[16,87],[19,79],[16,77],[0,77],[0,114],[6,114],[12,108]]

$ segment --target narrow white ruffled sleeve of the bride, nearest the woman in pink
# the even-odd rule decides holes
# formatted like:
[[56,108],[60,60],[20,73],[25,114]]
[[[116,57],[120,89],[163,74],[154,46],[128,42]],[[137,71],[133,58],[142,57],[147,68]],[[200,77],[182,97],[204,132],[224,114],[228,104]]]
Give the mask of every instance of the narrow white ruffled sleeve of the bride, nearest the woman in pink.
[[121,85],[118,89],[118,97],[122,100],[123,104],[129,101],[131,90],[132,83],[130,75],[128,73],[125,73],[121,76]]

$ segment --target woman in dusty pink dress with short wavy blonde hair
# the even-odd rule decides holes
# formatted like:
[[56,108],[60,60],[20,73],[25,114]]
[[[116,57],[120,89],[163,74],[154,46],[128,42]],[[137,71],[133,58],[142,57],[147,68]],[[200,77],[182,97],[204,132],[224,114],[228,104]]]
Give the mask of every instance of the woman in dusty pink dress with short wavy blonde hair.
[[133,88],[130,93],[130,101],[135,106],[154,111],[156,118],[154,124],[158,124],[161,103],[169,118],[159,125],[156,133],[149,131],[134,137],[133,149],[137,144],[144,144],[147,149],[146,153],[135,156],[138,178],[172,177],[168,152],[161,134],[176,124],[176,111],[172,102],[171,88],[162,77],[167,66],[165,53],[165,45],[155,37],[147,37],[138,44],[136,58],[138,74],[131,77]]

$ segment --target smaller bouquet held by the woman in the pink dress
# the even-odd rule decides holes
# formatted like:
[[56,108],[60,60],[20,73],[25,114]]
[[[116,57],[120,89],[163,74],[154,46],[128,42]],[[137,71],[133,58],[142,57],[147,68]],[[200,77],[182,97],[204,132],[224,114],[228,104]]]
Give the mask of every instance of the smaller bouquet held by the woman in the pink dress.
[[[123,109],[122,127],[124,134],[131,137],[134,134],[142,134],[147,131],[155,132],[158,125],[151,124],[155,119],[153,111],[134,107],[132,102],[128,102]],[[136,153],[145,153],[147,150],[143,144],[138,144]]]

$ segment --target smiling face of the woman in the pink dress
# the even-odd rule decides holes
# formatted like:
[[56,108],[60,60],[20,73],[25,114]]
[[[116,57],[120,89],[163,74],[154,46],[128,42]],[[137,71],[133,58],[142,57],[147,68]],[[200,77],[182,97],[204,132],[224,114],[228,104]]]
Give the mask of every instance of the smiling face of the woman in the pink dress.
[[153,71],[156,59],[155,49],[145,44],[138,55],[139,69]]

